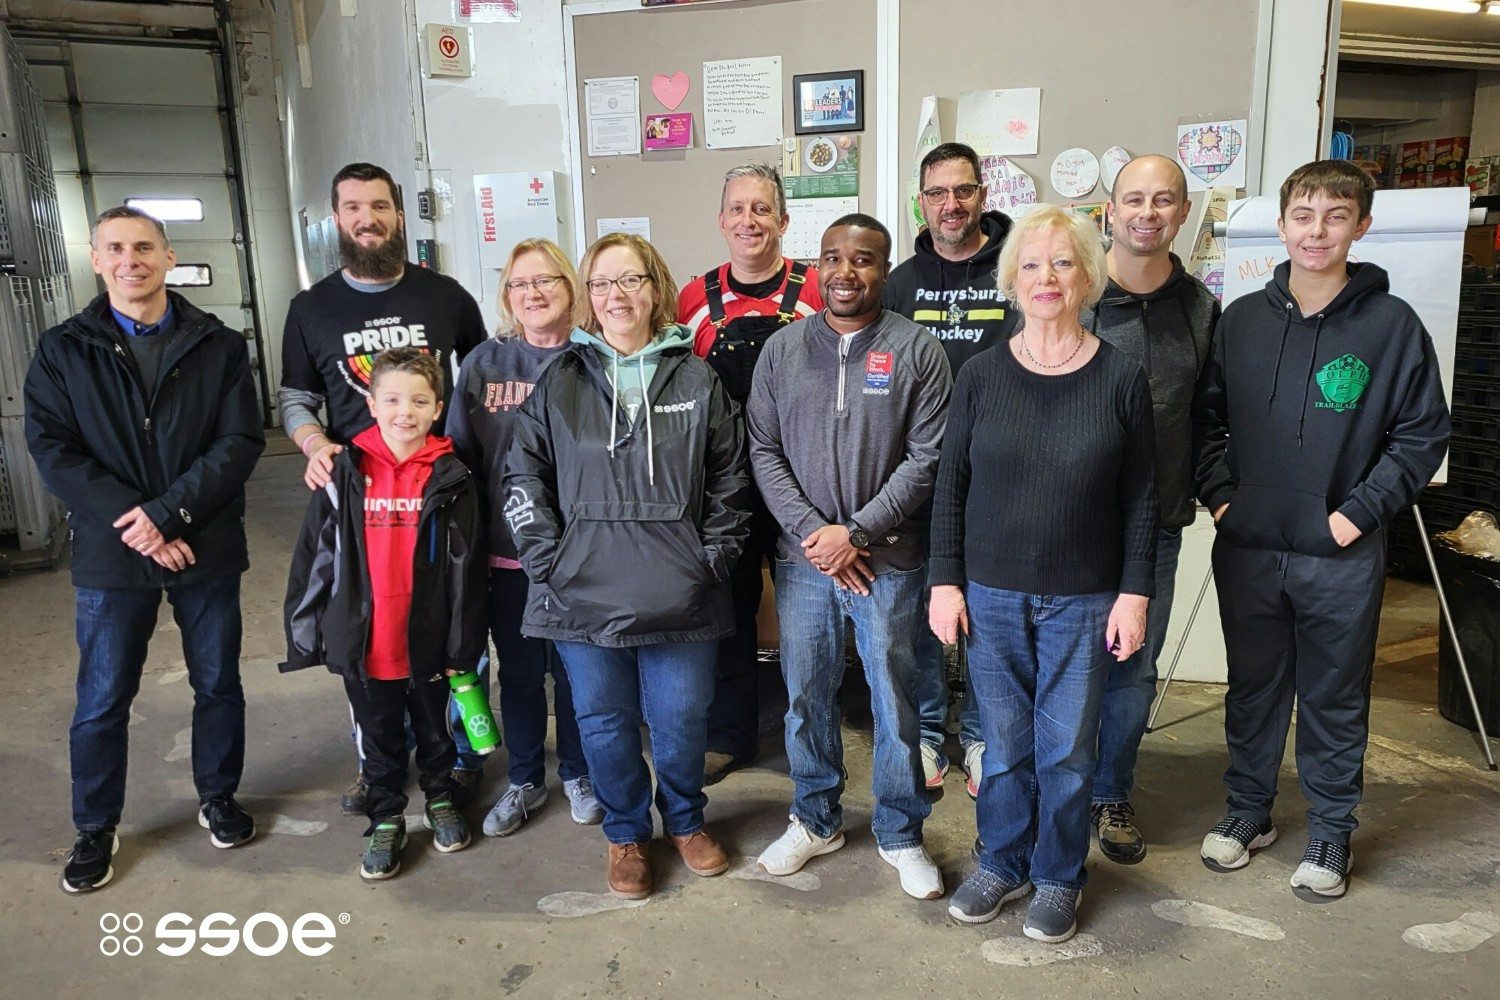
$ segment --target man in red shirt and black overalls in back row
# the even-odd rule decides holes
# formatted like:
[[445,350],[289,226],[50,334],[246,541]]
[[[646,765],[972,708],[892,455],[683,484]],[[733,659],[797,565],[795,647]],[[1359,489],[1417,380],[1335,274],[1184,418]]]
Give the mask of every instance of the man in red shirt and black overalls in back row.
[[[782,171],[765,163],[730,169],[718,199],[718,232],[729,246],[729,262],[693,279],[678,295],[676,321],[693,331],[693,352],[708,360],[729,397],[741,406],[771,334],[824,307],[818,271],[782,256],[782,234],[789,220]],[[750,763],[759,750],[756,612],[765,588],[760,567],[766,559],[774,564],[778,531],[754,489],[746,501],[750,538],[729,574],[735,634],[718,643],[704,784]]]

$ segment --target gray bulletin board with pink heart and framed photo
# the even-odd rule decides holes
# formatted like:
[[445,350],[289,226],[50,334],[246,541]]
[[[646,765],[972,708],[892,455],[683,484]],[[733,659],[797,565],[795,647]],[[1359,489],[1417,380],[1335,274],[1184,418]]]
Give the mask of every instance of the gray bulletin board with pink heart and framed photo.
[[[986,0],[975,0],[982,3]],[[574,76],[639,76],[640,114],[663,114],[652,96],[657,73],[684,72],[690,88],[678,112],[693,115],[693,148],[626,156],[582,157],[584,232],[597,234],[600,217],[651,220],[651,243],[680,283],[728,259],[718,235],[718,196],[724,171],[748,162],[782,163],[782,147],[704,148],[704,63],[762,55],[782,57],[784,135],[794,135],[792,76],[862,69],[866,130],[860,132],[860,210],[878,213],[874,142],[878,102],[876,0],[759,0],[676,4],[586,13],[573,18]],[[584,106],[573,123],[586,135]],[[810,136],[802,136],[810,138]],[[582,256],[584,247],[578,247]]]

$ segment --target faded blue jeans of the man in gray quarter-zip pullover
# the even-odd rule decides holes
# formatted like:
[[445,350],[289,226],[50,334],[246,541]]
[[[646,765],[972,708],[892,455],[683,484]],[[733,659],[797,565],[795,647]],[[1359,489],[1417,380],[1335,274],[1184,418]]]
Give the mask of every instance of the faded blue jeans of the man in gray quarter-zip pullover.
[[870,597],[840,591],[806,559],[777,559],[776,613],[782,619],[782,673],[786,676],[786,757],[795,786],[792,816],[819,837],[843,828],[843,736],[838,684],[843,681],[844,619],[870,684],[874,714],[874,814],[870,829],[886,850],[922,843],[932,811],[916,750],[916,630],[927,570],[888,570],[870,583]]

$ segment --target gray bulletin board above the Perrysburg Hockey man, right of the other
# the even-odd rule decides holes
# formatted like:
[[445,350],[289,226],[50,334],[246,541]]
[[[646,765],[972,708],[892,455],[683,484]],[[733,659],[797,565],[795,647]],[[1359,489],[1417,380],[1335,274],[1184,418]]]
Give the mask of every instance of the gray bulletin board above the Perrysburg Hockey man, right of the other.
[[[902,219],[898,229],[892,226],[904,249],[898,256],[909,252],[914,235],[906,190],[916,163],[916,123],[927,94],[940,99],[939,121],[946,141],[956,136],[960,93],[1041,87],[1036,154],[1010,159],[1036,181],[1042,202],[1108,198],[1102,183],[1076,199],[1053,190],[1053,157],[1064,150],[1083,147],[1102,156],[1107,148],[1122,145],[1134,156],[1170,156],[1179,121],[1248,118],[1246,154],[1254,178],[1260,162],[1260,135],[1251,114],[1256,49],[1262,6],[1269,3],[900,0]],[[1192,198],[1197,208],[1206,193]]]

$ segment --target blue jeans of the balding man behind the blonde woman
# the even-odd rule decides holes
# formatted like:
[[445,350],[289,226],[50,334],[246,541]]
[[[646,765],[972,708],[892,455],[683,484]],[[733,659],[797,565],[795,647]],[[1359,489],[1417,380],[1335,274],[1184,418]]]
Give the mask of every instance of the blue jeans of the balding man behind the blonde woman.
[[1178,580],[1182,529],[1156,534],[1156,597],[1146,607],[1146,643],[1130,660],[1110,660],[1100,706],[1100,762],[1094,768],[1094,802],[1125,802],[1136,787],[1136,754],[1150,703],[1156,697],[1156,660],[1167,643],[1172,595]]

